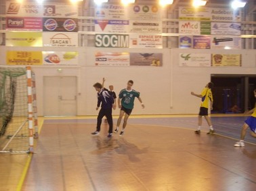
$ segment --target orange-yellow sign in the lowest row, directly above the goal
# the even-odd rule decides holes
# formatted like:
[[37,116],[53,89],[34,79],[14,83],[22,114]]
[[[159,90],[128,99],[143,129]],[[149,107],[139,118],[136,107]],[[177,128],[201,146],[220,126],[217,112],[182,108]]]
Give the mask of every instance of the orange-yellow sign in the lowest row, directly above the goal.
[[41,51],[7,51],[7,65],[42,65]]

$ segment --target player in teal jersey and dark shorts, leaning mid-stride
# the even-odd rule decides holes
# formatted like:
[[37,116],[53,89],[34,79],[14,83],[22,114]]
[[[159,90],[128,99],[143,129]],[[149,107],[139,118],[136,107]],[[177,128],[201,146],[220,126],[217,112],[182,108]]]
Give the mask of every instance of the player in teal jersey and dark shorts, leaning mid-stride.
[[121,90],[121,92],[119,93],[119,98],[117,99],[117,103],[119,105],[119,108],[121,108],[121,110],[119,114],[119,119],[117,119],[116,130],[114,130],[114,132],[115,133],[119,132],[119,126],[121,124],[123,115],[125,115],[125,118],[123,119],[123,129],[120,132],[121,136],[125,132],[127,120],[129,118],[129,115],[131,114],[131,111],[133,110],[135,97],[137,97],[137,99],[142,104],[142,108],[145,107],[144,103],[142,103],[142,99],[140,98],[140,92],[133,90],[131,86],[133,86],[133,80],[128,81],[127,88]]

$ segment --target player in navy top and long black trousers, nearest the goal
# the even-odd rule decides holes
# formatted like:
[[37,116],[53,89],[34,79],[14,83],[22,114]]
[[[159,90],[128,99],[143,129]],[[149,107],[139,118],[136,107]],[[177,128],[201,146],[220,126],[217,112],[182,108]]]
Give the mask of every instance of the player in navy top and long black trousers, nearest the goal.
[[108,92],[108,90],[106,88],[102,87],[102,84],[97,82],[93,85],[93,87],[98,92],[97,93],[98,104],[97,104],[96,110],[99,109],[100,105],[101,105],[101,109],[100,109],[100,112],[99,112],[98,118],[97,118],[96,131],[92,132],[91,134],[93,134],[93,135],[100,134],[100,126],[102,124],[102,118],[104,116],[106,116],[108,125],[109,125],[108,137],[112,137],[112,131],[113,131],[112,107],[113,108],[115,107],[114,98],[112,97],[110,92]]

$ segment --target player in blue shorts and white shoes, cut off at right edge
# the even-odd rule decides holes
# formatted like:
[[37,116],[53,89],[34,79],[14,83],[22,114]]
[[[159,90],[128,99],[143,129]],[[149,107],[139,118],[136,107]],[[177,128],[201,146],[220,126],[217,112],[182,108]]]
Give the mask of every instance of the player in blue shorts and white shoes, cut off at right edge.
[[[254,97],[256,98],[256,89],[253,91],[254,92]],[[251,129],[251,136],[256,138],[256,107],[251,109],[251,111],[248,111],[248,113],[253,113],[250,117],[248,117],[244,121],[244,125],[242,126],[242,130],[240,133],[240,141],[236,142],[234,146],[240,147],[244,146],[244,137],[247,134],[247,129]]]

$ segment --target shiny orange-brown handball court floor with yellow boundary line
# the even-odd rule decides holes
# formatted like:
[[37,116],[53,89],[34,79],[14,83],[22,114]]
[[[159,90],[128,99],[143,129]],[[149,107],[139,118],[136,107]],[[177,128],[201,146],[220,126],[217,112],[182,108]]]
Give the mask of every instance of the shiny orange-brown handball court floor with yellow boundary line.
[[205,119],[194,134],[196,115],[131,116],[112,138],[104,122],[91,136],[96,117],[44,118],[33,155],[0,155],[0,190],[253,191],[256,140],[234,147],[247,116],[228,116],[211,117],[213,135]]

